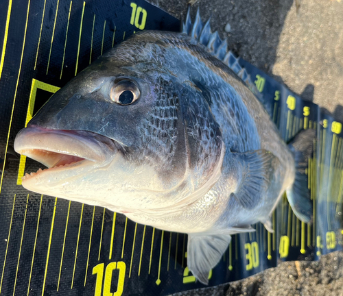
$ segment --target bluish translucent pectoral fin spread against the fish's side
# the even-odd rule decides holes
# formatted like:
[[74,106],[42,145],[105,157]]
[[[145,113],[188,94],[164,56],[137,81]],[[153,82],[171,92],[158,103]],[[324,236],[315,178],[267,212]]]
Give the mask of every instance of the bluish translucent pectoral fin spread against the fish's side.
[[252,210],[268,188],[278,158],[264,149],[248,153],[232,153],[241,180],[233,196],[241,206]]

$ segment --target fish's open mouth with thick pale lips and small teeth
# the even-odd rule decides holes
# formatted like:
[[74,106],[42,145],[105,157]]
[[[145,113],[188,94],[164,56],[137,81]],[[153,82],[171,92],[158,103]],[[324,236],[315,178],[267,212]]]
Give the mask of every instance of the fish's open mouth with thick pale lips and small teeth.
[[14,140],[14,150],[43,164],[47,169],[26,173],[23,186],[33,177],[80,167],[102,167],[110,162],[115,151],[113,140],[93,132],[49,130],[30,126]]

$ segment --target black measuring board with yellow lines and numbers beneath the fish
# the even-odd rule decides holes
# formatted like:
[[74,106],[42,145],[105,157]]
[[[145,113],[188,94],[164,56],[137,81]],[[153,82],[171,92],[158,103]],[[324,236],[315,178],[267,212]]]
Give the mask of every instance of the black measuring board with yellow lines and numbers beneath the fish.
[[[140,1],[6,0],[0,3],[0,294],[167,295],[204,287],[187,269],[187,235],[122,214],[31,193],[21,186],[37,162],[13,151],[16,134],[72,77],[141,29],[180,31],[180,22]],[[274,233],[233,236],[209,285],[239,280],[277,260],[314,260],[342,249],[342,124],[233,55],[252,77],[285,141],[317,130],[307,175],[314,223],[296,219],[286,197]]]

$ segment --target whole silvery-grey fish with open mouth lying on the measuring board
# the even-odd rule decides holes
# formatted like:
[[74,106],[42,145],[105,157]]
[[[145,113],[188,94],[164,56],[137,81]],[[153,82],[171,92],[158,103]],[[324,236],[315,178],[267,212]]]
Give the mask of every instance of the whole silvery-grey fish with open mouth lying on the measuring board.
[[313,134],[286,145],[226,40],[199,12],[182,32],[138,32],[58,90],[14,149],[47,169],[23,186],[188,234],[187,266],[208,284],[233,234],[261,222],[286,192],[311,221],[305,164]]

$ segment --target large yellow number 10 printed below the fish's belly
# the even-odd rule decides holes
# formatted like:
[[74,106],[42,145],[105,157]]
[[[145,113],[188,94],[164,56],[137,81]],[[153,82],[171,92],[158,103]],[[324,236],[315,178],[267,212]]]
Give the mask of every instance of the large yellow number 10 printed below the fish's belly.
[[[105,264],[97,264],[93,267],[92,274],[97,275],[97,281],[95,282],[95,296],[120,296],[123,294],[124,288],[124,280],[125,280],[125,271],[126,271],[126,264],[125,262],[110,262],[105,271],[105,282],[104,282],[104,292],[102,293],[102,282],[104,280],[104,267]],[[110,284],[112,282],[112,275],[115,269],[119,270],[118,276],[118,284],[117,284],[117,291],[115,293],[111,293],[110,291]]]

